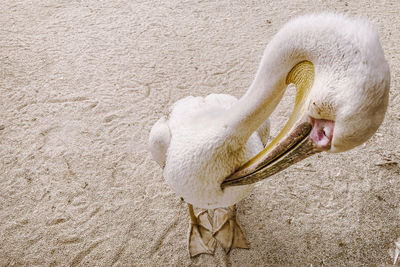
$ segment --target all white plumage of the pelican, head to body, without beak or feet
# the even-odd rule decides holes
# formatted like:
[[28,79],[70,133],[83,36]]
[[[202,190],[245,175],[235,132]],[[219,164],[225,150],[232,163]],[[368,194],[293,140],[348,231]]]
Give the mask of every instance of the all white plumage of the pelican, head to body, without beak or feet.
[[[267,117],[279,103],[290,69],[314,64],[309,116],[335,120],[331,152],[365,142],[381,124],[390,82],[378,34],[363,20],[337,14],[309,15],[287,23],[270,41],[248,92],[186,97],[168,122],[150,133],[150,150],[164,177],[186,202],[201,208],[227,207],[252,186],[228,187],[223,180],[267,142]],[[259,136],[261,135],[261,138]]]

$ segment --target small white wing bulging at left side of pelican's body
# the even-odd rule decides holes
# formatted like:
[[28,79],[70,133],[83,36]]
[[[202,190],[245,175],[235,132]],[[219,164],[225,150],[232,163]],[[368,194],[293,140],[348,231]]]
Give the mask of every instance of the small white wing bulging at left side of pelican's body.
[[161,117],[151,128],[149,135],[149,150],[161,168],[164,168],[167,159],[167,151],[171,133],[169,131],[168,121]]

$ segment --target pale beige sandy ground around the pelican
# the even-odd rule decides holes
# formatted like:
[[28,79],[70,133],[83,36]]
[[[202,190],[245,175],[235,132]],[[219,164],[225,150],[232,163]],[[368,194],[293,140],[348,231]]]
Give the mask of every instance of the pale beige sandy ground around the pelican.
[[[400,236],[400,2],[2,1],[0,266],[386,266]],[[289,18],[361,15],[391,65],[365,145],[310,158],[238,205],[251,249],[190,259],[186,206],[146,150],[176,100],[240,97]],[[272,117],[288,117],[288,91]]]

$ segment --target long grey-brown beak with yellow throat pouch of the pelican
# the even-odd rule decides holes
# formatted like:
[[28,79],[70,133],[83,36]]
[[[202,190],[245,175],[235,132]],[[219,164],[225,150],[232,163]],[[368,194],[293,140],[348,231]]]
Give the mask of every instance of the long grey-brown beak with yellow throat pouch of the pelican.
[[297,90],[291,117],[264,150],[224,180],[222,189],[258,182],[319,152],[310,138],[312,125],[305,115],[306,99],[313,82],[314,66],[311,62],[303,61],[293,67],[286,79],[286,83],[294,83]]

